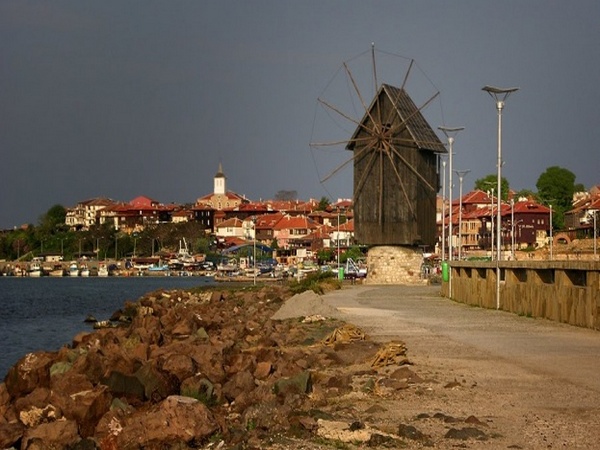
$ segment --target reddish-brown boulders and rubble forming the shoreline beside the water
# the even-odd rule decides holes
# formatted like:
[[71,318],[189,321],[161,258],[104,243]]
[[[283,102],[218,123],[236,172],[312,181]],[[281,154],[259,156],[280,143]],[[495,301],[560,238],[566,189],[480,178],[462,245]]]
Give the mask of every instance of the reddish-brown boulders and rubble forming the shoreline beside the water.
[[[149,293],[127,302],[115,327],[9,370],[0,448],[434,446],[412,424],[377,424],[384,401],[426,385],[406,347],[373,342],[336,315],[289,285]],[[370,421],[357,402],[371,405]],[[475,417],[426,419],[453,420],[457,437],[446,438],[489,437]]]

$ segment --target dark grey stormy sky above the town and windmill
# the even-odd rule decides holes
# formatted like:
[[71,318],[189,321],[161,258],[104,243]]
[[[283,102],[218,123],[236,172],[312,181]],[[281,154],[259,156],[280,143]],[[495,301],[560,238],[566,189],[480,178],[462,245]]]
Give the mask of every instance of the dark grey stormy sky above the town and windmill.
[[195,202],[219,164],[251,200],[351,198],[349,152],[316,144],[350,138],[373,74],[406,78],[441,140],[465,127],[465,192],[497,170],[485,85],[519,87],[502,112],[510,187],[560,166],[589,189],[598,43],[597,0],[3,0],[0,228],[96,197]]

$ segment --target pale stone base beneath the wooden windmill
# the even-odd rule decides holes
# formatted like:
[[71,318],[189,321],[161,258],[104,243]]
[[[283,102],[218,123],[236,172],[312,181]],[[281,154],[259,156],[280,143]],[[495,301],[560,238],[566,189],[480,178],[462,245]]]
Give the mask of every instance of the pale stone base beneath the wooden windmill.
[[402,246],[371,247],[367,255],[366,284],[427,284],[421,276],[423,253]]

